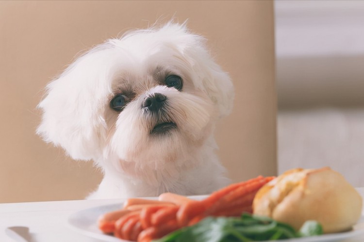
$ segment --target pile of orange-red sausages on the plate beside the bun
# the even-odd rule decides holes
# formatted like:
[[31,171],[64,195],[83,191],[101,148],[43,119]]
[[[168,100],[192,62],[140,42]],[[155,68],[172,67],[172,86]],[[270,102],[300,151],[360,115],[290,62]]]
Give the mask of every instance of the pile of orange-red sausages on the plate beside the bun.
[[[130,205],[130,201],[127,201],[126,204],[130,205],[128,208],[101,216],[99,228],[104,233],[113,233],[120,239],[149,242],[181,227],[197,224],[205,217],[240,216],[243,212],[251,213],[255,194],[273,178],[259,176],[231,184],[201,201],[164,194],[160,196],[161,202],[172,202],[173,205],[150,204],[147,199],[143,199],[145,201],[142,203],[145,202],[145,206],[133,211],[130,207],[140,203]],[[122,216],[117,218],[117,213]]]

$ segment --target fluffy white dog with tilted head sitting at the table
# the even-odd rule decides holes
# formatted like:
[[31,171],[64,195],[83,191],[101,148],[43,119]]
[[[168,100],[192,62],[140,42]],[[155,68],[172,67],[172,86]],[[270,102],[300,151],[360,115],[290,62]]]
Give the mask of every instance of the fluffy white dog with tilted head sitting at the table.
[[230,77],[185,24],[99,45],[47,86],[37,134],[104,179],[88,198],[208,194],[227,185],[213,137],[231,112]]

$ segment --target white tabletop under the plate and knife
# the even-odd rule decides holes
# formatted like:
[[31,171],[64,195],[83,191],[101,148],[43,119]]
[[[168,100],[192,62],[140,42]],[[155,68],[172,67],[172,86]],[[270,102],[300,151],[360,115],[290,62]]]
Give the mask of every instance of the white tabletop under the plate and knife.
[[[358,188],[364,197],[364,188]],[[29,227],[30,242],[100,242],[74,231],[68,224],[70,214],[92,207],[120,203],[123,199],[74,200],[53,202],[3,203],[0,204],[0,242],[14,242],[5,228],[11,226]],[[363,210],[364,215],[364,210]],[[364,242],[356,238],[351,242]]]

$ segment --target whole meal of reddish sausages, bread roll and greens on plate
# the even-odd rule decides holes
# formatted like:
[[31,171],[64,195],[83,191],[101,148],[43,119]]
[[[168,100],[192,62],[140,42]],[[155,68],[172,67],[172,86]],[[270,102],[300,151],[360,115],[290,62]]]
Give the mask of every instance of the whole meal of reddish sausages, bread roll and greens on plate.
[[231,184],[201,201],[173,193],[130,198],[100,216],[99,228],[138,242],[278,240],[347,231],[361,211],[361,196],[338,172],[297,168]]

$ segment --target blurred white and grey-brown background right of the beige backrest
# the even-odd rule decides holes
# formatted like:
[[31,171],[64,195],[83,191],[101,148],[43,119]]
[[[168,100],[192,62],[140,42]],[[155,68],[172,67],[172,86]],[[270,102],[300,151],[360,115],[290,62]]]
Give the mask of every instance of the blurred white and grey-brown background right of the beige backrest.
[[364,186],[364,1],[276,0],[278,171]]

